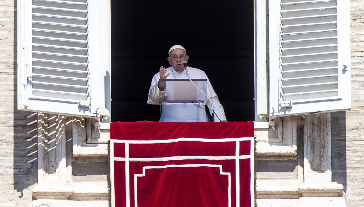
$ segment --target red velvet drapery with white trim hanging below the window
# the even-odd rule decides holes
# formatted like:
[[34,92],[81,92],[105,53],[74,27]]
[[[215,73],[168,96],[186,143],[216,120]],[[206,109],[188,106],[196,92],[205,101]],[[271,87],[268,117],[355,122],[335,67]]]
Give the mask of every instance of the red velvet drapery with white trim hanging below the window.
[[117,207],[254,206],[253,122],[111,123]]

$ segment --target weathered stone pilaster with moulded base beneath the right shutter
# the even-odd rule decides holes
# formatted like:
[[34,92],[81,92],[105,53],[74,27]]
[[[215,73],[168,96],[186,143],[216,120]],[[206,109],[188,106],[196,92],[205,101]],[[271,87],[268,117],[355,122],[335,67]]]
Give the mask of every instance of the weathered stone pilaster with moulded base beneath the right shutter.
[[[309,114],[304,126],[304,182],[300,185],[303,197],[336,197],[342,202],[343,185],[331,181],[331,116],[330,113]],[[339,200],[340,201],[339,201]],[[300,199],[302,205],[304,200]],[[318,199],[317,199],[318,201]],[[302,203],[303,202],[303,203]]]

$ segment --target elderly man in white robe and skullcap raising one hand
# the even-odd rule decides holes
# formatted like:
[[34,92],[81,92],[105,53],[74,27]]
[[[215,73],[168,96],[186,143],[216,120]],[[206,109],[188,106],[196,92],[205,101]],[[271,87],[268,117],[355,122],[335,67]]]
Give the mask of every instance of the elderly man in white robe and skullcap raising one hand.
[[[165,68],[161,66],[159,72],[154,75],[150,89],[148,104],[160,104],[160,100],[164,100],[166,94],[166,79],[187,79],[187,73],[183,61],[188,61],[189,56],[181,45],[174,45],[170,48],[169,57],[167,58],[171,67]],[[207,96],[214,105],[214,121],[226,121],[224,109],[219,102],[217,94],[211,86],[209,78],[205,72],[197,68],[187,68],[188,73],[193,79],[207,79]],[[207,101],[207,107],[210,114],[213,113],[211,102]],[[198,104],[171,104],[162,107],[162,116],[159,121],[164,122],[206,122],[209,117],[206,116],[205,106]]]

